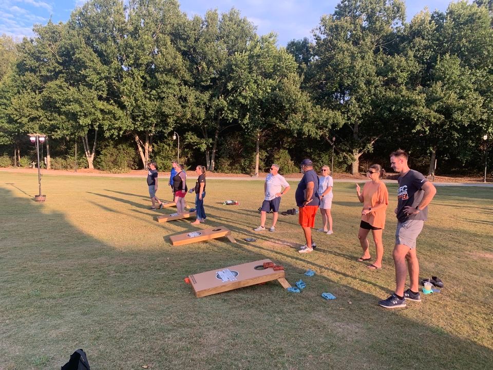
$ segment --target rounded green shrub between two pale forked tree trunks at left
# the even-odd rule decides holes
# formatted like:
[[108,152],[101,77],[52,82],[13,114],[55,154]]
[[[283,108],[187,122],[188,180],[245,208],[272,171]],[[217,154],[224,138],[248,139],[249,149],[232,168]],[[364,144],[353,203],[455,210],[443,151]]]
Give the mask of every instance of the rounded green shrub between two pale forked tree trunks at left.
[[94,159],[94,168],[112,173],[136,168],[136,150],[127,144],[108,145]]

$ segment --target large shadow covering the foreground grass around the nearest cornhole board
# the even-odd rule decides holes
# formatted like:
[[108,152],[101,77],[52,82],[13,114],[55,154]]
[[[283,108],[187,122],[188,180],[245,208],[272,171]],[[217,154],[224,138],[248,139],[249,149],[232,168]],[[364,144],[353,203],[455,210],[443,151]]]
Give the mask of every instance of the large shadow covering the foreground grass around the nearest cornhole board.
[[[451,335],[433,321],[409,318],[418,310],[424,317],[437,315],[435,303],[445,295],[385,311],[376,305],[382,297],[364,286],[355,289],[317,274],[304,278],[308,287],[300,294],[272,283],[197,299],[183,283],[190,273],[272,259],[276,253],[293,280],[316,261],[222,240],[117,250],[52,208],[33,208],[4,188],[0,197],[1,368],[57,368],[81,347],[91,366],[101,369],[401,368],[409,361],[413,368],[480,369],[493,362],[490,348]],[[15,212],[4,212],[9,209]],[[93,217],[94,223],[106,222],[104,215]],[[26,233],[26,219],[42,222],[30,224]],[[33,238],[37,233],[46,237]],[[156,236],[143,233],[142,239],[154,246]],[[318,268],[351,277],[336,267]],[[328,286],[335,301],[320,298]],[[467,320],[465,312],[461,316]],[[451,319],[440,322],[448,327]]]

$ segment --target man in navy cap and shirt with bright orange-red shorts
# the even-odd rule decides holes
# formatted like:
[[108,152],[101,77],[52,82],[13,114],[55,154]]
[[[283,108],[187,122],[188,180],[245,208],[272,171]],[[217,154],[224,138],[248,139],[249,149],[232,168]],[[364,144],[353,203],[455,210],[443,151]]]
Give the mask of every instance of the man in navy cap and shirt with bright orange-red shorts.
[[298,223],[305,233],[307,244],[301,247],[300,253],[310,253],[316,247],[312,242],[312,227],[315,225],[315,216],[320,197],[318,195],[318,176],[313,171],[313,162],[310,159],[304,159],[301,162],[301,172],[304,173],[296,189],[295,199],[298,206]]

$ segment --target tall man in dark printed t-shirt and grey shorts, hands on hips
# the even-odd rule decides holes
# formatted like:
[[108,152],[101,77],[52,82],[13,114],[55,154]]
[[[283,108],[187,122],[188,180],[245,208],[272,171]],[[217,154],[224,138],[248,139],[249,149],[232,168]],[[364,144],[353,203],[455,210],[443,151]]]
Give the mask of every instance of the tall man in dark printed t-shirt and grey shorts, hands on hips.
[[[409,156],[403,150],[390,155],[390,164],[394,171],[399,172],[399,188],[397,189],[397,230],[395,231],[395,247],[392,253],[395,264],[395,292],[386,300],[378,302],[385,308],[405,307],[406,300],[421,302],[419,293],[420,266],[416,256],[416,238],[423,229],[428,218],[428,205],[437,193],[437,189],[423,174],[411,170],[408,166]],[[406,266],[407,265],[407,266]],[[404,291],[407,270],[411,282],[409,289]]]

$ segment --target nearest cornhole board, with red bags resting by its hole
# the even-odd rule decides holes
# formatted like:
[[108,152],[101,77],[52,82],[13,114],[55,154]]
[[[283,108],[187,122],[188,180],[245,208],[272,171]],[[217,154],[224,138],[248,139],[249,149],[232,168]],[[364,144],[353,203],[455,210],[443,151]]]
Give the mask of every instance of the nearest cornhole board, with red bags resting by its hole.
[[264,262],[272,261],[268,259],[260,260],[201,272],[189,275],[188,279],[197,298],[272,280],[277,280],[285,289],[291,287],[285,279],[284,270],[274,271],[272,267],[264,269]]

